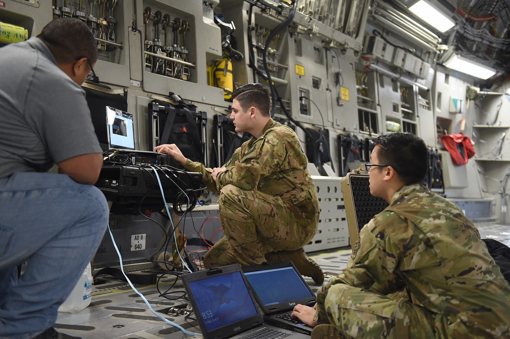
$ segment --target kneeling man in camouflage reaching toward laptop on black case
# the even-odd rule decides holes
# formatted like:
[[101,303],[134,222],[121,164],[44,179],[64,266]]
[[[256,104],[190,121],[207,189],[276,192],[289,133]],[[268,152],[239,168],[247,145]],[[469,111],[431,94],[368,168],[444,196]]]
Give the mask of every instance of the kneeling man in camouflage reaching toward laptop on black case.
[[271,119],[269,90],[249,83],[234,91],[236,132],[253,137],[223,167],[206,168],[183,156],[174,144],[155,149],[199,172],[208,190],[219,192],[225,236],[206,254],[207,268],[291,260],[302,275],[318,284],[324,275],[303,246],[315,235],[319,202],[296,133]]

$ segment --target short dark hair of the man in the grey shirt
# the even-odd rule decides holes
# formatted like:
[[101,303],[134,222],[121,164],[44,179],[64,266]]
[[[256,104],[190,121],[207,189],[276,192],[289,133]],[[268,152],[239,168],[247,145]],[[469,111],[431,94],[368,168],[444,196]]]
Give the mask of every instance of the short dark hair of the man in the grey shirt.
[[85,22],[74,18],[58,18],[44,26],[37,36],[52,52],[58,64],[70,64],[87,58],[97,60],[97,42]]

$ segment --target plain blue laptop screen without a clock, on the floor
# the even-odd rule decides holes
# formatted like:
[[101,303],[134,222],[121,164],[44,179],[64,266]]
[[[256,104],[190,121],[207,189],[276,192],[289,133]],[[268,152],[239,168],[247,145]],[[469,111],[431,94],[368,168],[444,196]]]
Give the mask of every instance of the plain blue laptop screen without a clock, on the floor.
[[315,297],[292,266],[244,272],[264,306]]

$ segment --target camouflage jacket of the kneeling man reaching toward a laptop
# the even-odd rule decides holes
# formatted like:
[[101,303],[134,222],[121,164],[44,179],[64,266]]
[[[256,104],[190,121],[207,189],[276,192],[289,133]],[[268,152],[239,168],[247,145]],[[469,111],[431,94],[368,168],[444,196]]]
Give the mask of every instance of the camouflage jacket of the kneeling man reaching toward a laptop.
[[232,184],[279,196],[291,210],[315,210],[310,219],[315,220],[313,227],[317,228],[319,203],[308,171],[308,158],[296,133],[288,126],[269,119],[258,138],[252,137],[234,152],[216,182],[211,177],[213,170],[199,162],[188,159],[185,167],[201,173],[203,184],[213,192]]

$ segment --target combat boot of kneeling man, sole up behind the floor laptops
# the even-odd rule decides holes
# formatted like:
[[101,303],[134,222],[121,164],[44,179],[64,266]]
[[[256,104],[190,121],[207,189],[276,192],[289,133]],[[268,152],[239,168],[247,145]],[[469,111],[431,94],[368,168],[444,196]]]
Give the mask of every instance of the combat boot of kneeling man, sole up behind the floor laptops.
[[270,263],[279,263],[282,261],[292,261],[294,266],[301,275],[309,276],[314,279],[315,284],[324,283],[324,273],[320,266],[310,259],[305,253],[303,248],[293,251],[276,251],[265,254],[266,260]]

